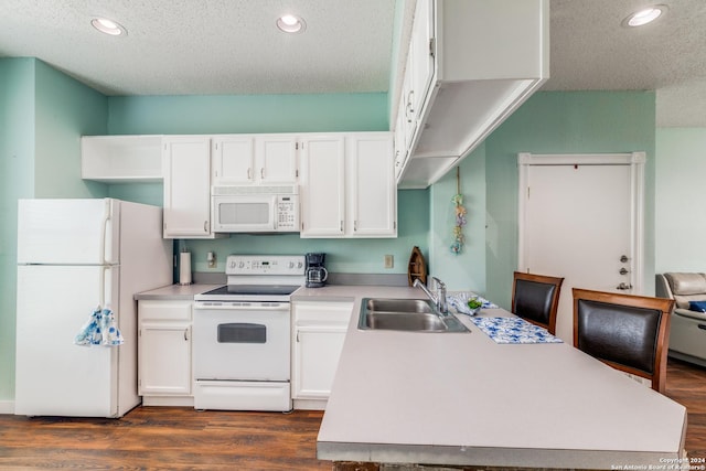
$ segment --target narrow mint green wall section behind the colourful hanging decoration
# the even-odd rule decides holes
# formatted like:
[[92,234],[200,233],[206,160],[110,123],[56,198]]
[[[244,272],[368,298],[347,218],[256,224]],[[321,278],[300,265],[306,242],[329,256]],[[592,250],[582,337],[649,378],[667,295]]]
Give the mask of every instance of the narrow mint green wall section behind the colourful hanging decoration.
[[431,227],[429,271],[450,291],[485,293],[485,146],[481,144],[459,165],[460,193],[463,195],[467,224],[464,244],[451,253],[457,193],[456,170],[431,186]]

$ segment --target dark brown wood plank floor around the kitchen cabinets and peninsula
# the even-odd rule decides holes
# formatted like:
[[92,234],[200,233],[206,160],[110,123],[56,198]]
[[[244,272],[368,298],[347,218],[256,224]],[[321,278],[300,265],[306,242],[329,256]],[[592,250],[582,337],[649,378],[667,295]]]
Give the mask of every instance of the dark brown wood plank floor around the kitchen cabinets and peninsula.
[[[670,358],[689,457],[706,457],[706,368]],[[0,469],[331,470],[315,458],[321,413],[138,407],[122,419],[0,415]]]

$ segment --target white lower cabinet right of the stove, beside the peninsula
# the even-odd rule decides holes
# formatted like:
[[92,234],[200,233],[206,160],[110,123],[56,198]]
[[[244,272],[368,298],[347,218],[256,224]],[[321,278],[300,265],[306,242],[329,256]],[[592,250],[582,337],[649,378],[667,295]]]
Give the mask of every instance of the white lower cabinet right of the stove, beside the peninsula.
[[324,409],[353,310],[350,301],[292,303],[292,399],[296,409]]

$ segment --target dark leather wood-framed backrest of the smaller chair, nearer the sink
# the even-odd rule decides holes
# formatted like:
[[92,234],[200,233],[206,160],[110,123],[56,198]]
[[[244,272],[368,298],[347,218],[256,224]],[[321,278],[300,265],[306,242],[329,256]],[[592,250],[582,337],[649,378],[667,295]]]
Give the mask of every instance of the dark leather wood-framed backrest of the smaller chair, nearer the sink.
[[556,312],[564,278],[515,271],[512,312],[533,324],[556,333]]

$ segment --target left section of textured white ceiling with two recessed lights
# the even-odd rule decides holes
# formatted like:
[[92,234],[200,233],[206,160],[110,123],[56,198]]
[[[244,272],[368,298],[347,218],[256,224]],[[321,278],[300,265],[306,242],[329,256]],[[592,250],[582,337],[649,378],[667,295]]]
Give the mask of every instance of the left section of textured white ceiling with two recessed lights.
[[[386,92],[394,0],[0,0],[0,56],[107,95]],[[285,34],[284,13],[304,18]],[[90,19],[118,21],[125,38]]]

